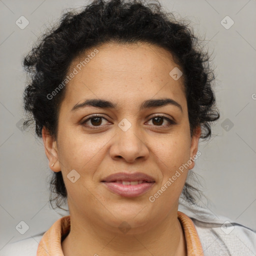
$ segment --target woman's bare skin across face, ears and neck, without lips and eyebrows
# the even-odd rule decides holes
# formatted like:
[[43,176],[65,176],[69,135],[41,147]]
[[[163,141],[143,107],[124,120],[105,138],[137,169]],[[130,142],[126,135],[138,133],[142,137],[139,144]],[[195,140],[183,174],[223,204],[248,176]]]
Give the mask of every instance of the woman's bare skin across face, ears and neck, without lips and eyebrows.
[[[57,139],[45,127],[42,130],[49,167],[62,171],[67,189],[71,230],[62,242],[63,253],[186,255],[177,207],[194,162],[154,202],[148,199],[197,152],[200,127],[191,137],[182,76],[175,81],[169,75],[178,65],[170,52],[146,43],[107,43],[97,49],[95,57],[66,85]],[[74,59],[70,70],[86,54]],[[165,97],[177,101],[182,111],[170,104],[139,110],[142,101]],[[76,103],[90,98],[111,100],[117,108],[89,106],[70,111]],[[87,126],[81,124],[92,114],[105,118],[98,124],[101,126],[95,120],[88,120]],[[158,124],[151,119],[157,114],[176,124],[166,127],[165,119]],[[131,124],[127,131],[118,127],[123,118]],[[80,174],[74,183],[67,178],[72,169]],[[155,183],[140,196],[119,196],[100,181],[121,171],[149,174]],[[131,227],[126,233],[118,228],[123,221]]]

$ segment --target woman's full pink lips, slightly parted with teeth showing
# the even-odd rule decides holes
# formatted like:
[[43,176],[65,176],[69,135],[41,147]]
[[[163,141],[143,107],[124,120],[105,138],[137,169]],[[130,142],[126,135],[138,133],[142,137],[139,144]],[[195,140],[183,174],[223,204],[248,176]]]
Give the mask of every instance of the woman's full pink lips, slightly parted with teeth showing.
[[155,183],[153,177],[142,172],[118,172],[107,176],[101,182],[108,190],[124,197],[142,195]]

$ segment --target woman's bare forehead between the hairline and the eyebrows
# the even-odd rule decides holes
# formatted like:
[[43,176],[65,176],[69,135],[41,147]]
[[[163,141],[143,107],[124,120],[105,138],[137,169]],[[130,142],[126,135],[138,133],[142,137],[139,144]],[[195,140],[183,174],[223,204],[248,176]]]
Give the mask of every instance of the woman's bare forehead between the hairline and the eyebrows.
[[67,83],[65,99],[71,104],[98,97],[124,104],[156,94],[184,98],[183,77],[174,80],[169,74],[175,67],[171,53],[159,46],[105,43],[73,59],[68,73],[77,73]]

